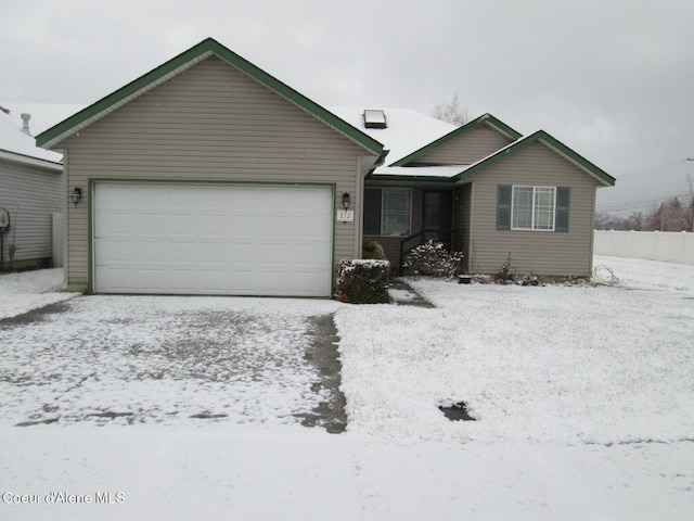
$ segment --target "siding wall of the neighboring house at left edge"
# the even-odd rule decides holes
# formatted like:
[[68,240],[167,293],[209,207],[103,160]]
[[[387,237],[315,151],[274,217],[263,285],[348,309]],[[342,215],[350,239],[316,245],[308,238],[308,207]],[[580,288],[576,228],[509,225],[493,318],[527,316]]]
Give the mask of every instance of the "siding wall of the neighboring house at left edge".
[[63,212],[65,204],[61,175],[55,169],[0,160],[0,207],[12,219],[4,245],[16,245],[15,267],[51,262],[52,213]]

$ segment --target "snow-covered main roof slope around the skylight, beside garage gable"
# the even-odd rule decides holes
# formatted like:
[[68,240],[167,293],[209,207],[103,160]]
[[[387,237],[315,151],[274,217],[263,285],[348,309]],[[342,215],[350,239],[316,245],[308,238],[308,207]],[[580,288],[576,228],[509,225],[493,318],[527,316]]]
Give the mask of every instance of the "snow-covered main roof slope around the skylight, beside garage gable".
[[[391,165],[457,128],[454,125],[410,109],[372,105],[326,106],[326,109],[340,119],[382,142],[385,149],[390,151],[386,156],[386,165]],[[364,126],[363,113],[369,109],[385,112],[386,128],[367,128]],[[374,174],[381,174],[382,168],[376,168]]]

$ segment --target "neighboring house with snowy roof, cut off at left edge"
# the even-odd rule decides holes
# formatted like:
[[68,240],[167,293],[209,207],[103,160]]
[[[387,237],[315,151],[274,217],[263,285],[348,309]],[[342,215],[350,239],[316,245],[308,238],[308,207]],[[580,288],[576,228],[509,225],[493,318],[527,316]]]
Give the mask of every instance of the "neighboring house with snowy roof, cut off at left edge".
[[10,226],[0,226],[0,270],[53,264],[53,214],[65,207],[62,173],[61,154],[36,147],[30,115],[2,105],[0,220]]

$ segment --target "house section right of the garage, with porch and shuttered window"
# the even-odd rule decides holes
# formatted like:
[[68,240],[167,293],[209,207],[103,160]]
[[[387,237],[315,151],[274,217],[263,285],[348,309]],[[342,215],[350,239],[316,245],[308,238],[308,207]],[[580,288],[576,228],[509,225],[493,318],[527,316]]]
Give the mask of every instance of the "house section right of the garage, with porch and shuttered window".
[[[335,113],[360,124],[355,111]],[[518,274],[591,275],[595,190],[614,186],[612,176],[549,134],[524,137],[490,114],[453,127],[412,111],[378,113],[381,127],[361,126],[390,152],[364,180],[363,238],[396,266],[433,239],[462,251],[473,274],[510,262]]]

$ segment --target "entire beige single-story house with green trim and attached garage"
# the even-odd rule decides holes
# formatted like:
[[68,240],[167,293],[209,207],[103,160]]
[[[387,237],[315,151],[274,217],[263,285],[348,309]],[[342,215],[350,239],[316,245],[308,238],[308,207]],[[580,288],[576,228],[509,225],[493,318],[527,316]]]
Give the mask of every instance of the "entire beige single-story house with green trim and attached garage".
[[329,110],[214,39],[42,132],[65,156],[68,287],[330,296],[381,242],[439,239],[472,272],[588,276],[595,189],[614,179],[493,116]]

